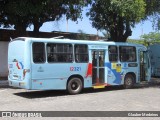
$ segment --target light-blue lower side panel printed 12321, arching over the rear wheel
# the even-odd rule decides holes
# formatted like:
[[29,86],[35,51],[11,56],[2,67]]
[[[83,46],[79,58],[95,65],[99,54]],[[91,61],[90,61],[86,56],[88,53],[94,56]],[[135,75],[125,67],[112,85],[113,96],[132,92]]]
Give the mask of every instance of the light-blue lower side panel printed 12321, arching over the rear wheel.
[[32,89],[66,89],[67,80],[72,75],[84,78],[84,87],[91,87],[91,79],[86,78],[87,63],[32,63]]

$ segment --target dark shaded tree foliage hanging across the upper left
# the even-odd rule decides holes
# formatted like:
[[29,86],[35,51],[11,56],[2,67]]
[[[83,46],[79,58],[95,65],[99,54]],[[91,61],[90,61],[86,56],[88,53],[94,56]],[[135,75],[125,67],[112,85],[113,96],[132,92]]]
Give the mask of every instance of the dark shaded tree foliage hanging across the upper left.
[[67,19],[76,21],[81,17],[82,8],[90,0],[1,0],[0,1],[0,25],[11,27],[19,32],[25,32],[26,28],[34,25],[34,32],[44,22],[59,20],[63,15]]

